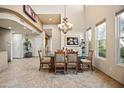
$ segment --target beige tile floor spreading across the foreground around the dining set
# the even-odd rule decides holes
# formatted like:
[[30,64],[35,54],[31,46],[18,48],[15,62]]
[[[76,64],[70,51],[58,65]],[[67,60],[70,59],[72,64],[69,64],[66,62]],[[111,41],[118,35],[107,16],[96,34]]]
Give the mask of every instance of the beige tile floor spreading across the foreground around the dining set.
[[113,88],[124,87],[104,73],[95,70],[77,75],[38,71],[38,58],[15,59],[8,69],[0,72],[0,87],[10,88]]

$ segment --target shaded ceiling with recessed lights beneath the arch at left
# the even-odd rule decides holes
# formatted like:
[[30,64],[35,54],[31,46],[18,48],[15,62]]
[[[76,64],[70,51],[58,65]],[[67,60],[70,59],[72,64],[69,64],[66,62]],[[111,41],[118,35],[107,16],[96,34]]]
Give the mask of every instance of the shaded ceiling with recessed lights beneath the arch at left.
[[0,27],[11,29],[13,33],[16,34],[37,34],[35,32],[32,32],[30,29],[24,27],[23,25],[17,23],[16,21],[9,19],[0,19]]

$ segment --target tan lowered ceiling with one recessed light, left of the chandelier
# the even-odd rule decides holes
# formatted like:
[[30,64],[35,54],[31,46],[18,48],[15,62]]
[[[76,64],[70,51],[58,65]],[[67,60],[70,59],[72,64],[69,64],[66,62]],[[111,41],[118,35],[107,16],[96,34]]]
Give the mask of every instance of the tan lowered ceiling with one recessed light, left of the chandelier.
[[38,14],[41,22],[43,24],[60,24],[61,15],[60,14]]

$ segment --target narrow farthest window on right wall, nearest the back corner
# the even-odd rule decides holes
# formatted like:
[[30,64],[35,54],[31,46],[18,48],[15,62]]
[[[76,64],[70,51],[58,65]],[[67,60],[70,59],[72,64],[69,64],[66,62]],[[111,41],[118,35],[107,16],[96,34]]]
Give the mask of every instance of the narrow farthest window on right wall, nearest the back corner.
[[86,40],[86,54],[88,54],[89,49],[91,49],[91,28],[85,32]]

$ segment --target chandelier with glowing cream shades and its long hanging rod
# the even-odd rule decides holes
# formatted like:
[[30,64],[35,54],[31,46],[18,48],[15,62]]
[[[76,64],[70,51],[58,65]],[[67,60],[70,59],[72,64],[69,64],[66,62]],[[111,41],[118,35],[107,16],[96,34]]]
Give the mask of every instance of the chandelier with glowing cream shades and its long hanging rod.
[[68,22],[68,18],[66,17],[66,6],[64,6],[64,18],[62,23],[58,25],[60,31],[66,34],[69,30],[72,29],[72,24]]

